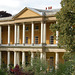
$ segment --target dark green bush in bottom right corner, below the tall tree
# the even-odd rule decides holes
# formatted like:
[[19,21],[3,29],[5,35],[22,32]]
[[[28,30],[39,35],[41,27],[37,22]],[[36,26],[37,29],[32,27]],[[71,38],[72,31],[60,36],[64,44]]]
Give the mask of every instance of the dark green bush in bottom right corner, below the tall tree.
[[[75,65],[75,64],[74,64]],[[59,64],[56,75],[72,75],[74,68],[73,62],[67,61],[64,64]]]

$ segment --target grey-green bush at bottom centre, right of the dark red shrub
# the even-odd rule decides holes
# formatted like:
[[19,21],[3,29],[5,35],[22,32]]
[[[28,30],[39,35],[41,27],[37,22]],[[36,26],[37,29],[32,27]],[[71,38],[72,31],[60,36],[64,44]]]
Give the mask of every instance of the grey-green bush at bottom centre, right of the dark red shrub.
[[48,68],[47,62],[45,60],[41,61],[39,55],[36,54],[36,57],[33,59],[32,66],[31,65],[26,66],[25,71],[32,72],[33,73],[32,75],[44,75],[46,74],[47,68]]

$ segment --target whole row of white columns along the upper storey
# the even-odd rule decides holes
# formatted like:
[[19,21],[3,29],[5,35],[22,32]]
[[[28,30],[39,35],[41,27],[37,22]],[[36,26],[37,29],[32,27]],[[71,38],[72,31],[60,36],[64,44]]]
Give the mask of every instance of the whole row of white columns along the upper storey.
[[[23,41],[25,45],[25,23],[23,24]],[[10,45],[10,26],[8,25],[8,45]],[[0,26],[0,45],[2,44],[2,26]],[[20,27],[18,24],[14,24],[14,44],[19,44]],[[34,45],[34,22],[31,22],[31,44]],[[41,44],[46,44],[46,23],[41,22]],[[56,44],[58,44],[58,31],[56,31]]]

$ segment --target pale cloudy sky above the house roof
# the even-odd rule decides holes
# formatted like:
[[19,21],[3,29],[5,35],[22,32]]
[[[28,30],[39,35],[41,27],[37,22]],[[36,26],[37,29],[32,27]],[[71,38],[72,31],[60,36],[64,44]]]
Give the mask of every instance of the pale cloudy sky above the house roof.
[[60,2],[61,0],[0,0],[0,11],[15,15],[25,7],[45,9],[52,6],[52,9],[59,9]]

